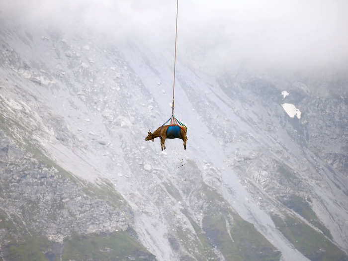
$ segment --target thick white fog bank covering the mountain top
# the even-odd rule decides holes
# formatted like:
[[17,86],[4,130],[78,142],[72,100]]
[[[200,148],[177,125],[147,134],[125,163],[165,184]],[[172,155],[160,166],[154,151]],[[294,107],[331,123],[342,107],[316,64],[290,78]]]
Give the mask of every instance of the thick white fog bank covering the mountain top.
[[[1,16],[66,33],[102,33],[174,52],[176,0],[28,0]],[[235,68],[347,70],[347,0],[179,0],[178,62]]]

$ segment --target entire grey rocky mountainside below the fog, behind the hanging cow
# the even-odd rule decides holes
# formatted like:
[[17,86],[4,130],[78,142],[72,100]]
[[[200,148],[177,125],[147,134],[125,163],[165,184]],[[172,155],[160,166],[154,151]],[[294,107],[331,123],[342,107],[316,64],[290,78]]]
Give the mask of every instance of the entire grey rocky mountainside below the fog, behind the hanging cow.
[[348,260],[347,79],[187,61],[161,152],[170,55],[1,22],[0,260]]

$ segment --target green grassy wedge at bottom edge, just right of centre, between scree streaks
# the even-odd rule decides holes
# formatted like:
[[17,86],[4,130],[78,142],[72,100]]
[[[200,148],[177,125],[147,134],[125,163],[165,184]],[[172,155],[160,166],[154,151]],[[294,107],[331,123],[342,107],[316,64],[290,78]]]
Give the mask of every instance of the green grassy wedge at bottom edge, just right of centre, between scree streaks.
[[[210,244],[217,247],[226,260],[274,261],[280,252],[257,231],[253,224],[234,213],[225,199],[215,189],[203,183],[202,189],[215,215],[205,215],[203,229]],[[233,217],[233,219],[231,218]],[[230,224],[230,231],[227,229]],[[231,237],[229,233],[231,234]]]

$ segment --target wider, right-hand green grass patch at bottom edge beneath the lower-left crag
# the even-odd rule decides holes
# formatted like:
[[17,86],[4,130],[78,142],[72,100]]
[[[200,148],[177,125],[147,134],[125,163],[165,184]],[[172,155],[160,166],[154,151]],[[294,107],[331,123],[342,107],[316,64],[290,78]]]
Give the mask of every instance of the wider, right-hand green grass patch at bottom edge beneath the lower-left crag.
[[127,232],[73,236],[64,241],[62,260],[155,260],[142,245]]

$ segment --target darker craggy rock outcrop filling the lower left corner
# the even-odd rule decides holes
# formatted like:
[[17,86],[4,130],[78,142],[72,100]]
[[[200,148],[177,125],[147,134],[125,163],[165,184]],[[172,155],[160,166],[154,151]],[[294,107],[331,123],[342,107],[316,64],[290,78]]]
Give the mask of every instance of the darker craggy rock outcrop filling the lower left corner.
[[[2,127],[4,123],[2,118]],[[83,182],[50,161],[33,144],[18,147],[7,138],[12,134],[0,130],[0,240],[4,260],[84,257],[88,242],[75,249],[82,239],[73,235],[84,240],[96,238],[96,242],[104,239],[109,243],[114,238],[129,241],[134,246],[128,253],[117,245],[109,252],[123,252],[120,256],[124,258],[154,260],[128,233],[134,224],[133,213],[112,184]],[[69,244],[73,253],[69,252]],[[100,251],[96,248],[93,253]]]

